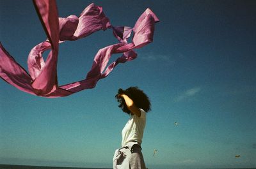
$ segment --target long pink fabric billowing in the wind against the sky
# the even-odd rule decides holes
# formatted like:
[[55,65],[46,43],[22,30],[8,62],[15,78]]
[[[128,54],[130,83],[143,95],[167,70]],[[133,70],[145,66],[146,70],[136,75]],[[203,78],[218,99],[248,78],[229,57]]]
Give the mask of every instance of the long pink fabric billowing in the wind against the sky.
[[[118,63],[135,59],[137,54],[132,49],[152,42],[154,24],[159,21],[156,15],[147,9],[133,28],[113,27],[108,17],[104,15],[102,7],[93,3],[86,7],[79,17],[70,15],[67,18],[58,18],[55,1],[34,0],[33,2],[48,39],[36,45],[29,53],[29,73],[8,54],[0,43],[0,77],[21,91],[49,98],[68,96],[93,88],[98,80],[107,77]],[[79,40],[95,31],[106,29],[113,29],[113,35],[119,43],[101,48],[97,52],[92,69],[84,80],[59,86],[56,70],[59,43]],[[132,43],[127,43],[132,31],[134,32]],[[42,54],[49,49],[51,52],[44,61]],[[122,53],[122,56],[107,67],[111,55],[118,53]]]

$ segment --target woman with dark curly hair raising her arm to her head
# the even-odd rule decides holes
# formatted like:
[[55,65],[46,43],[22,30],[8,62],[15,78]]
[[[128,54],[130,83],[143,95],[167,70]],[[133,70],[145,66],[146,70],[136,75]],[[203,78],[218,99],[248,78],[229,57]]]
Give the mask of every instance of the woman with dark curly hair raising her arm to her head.
[[151,106],[148,96],[138,87],[129,87],[125,91],[119,89],[115,97],[120,103],[118,107],[129,114],[130,119],[122,130],[122,147],[115,151],[113,168],[145,169],[141,143],[146,112],[150,111]]

